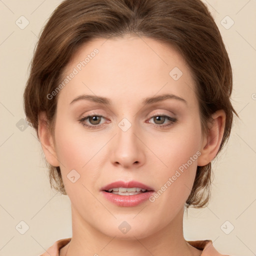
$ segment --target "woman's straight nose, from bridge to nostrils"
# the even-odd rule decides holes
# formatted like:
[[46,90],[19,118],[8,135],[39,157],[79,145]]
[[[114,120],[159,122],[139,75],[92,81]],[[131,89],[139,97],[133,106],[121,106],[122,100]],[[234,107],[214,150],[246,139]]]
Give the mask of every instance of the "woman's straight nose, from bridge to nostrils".
[[[124,124],[122,126],[122,124]],[[126,130],[124,127],[128,125]],[[115,166],[123,168],[137,168],[144,164],[145,145],[136,125],[126,122],[116,127],[117,134],[110,145],[110,160]]]

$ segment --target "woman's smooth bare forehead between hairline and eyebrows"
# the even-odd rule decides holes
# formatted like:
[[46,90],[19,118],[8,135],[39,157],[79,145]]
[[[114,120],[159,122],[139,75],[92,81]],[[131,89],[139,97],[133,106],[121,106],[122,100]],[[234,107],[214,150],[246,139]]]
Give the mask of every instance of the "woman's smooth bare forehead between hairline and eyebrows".
[[59,100],[94,94],[123,102],[157,93],[195,100],[186,61],[174,47],[145,36],[94,38],[79,47],[63,79],[72,72]]

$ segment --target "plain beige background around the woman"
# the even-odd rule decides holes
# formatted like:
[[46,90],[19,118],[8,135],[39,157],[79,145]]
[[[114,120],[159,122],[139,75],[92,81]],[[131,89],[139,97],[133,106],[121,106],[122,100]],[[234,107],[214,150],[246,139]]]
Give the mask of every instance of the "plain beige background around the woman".
[[[71,237],[69,198],[50,189],[35,132],[22,128],[28,64],[40,29],[59,3],[0,0],[0,255],[4,256],[35,256],[57,239]],[[226,149],[213,163],[212,199],[204,209],[188,210],[184,236],[211,239],[222,253],[251,256],[256,254],[256,1],[207,0],[207,5],[230,56],[232,102],[240,119],[235,118]],[[15,23],[21,15],[29,21],[24,29]],[[227,15],[234,21],[229,29],[222,25],[231,24]],[[19,232],[24,223],[16,227],[22,220],[29,226],[24,234]],[[232,225],[234,229],[225,234]]]

